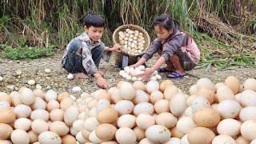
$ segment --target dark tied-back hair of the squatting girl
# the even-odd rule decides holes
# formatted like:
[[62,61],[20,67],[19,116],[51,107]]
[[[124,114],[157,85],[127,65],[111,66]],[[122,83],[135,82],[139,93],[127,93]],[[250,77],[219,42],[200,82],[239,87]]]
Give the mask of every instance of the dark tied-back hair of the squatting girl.
[[154,26],[161,26],[166,30],[179,30],[179,23],[174,18],[171,18],[169,14],[161,14],[154,19]]

